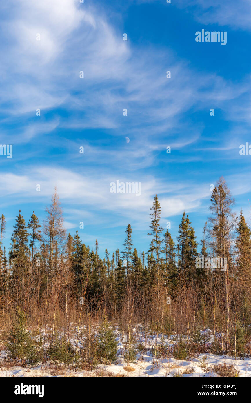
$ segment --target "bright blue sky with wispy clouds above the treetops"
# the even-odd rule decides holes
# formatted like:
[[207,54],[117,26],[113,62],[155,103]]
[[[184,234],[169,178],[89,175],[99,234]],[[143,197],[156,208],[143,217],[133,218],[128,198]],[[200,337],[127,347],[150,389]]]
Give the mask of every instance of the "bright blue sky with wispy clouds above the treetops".
[[[91,248],[97,239],[102,256],[122,250],[128,223],[147,251],[156,193],[174,240],[183,211],[200,240],[222,175],[249,221],[251,156],[239,154],[251,144],[249,1],[23,0],[1,15],[6,247],[19,208],[42,221],[54,185],[67,231]],[[195,42],[202,29],[226,31],[227,44]],[[141,196],[110,193],[116,180],[141,182]]]

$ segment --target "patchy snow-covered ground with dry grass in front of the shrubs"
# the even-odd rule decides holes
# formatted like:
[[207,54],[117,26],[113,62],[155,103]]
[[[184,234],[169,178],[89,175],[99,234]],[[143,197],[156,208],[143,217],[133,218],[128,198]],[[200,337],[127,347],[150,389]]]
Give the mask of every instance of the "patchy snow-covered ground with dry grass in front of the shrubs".
[[[154,377],[212,377],[217,376],[213,370],[213,366],[218,364],[232,365],[239,371],[239,377],[251,376],[251,358],[236,359],[228,355],[214,355],[212,353],[200,354],[191,360],[175,359],[172,354],[168,358],[154,358],[152,357],[151,348],[153,338],[148,339],[147,347],[149,351],[147,354],[137,354],[136,359],[130,362],[123,358],[124,349],[126,348],[126,338],[122,337],[118,332],[118,358],[112,365],[98,364],[95,370],[86,371],[79,369],[60,368],[52,362],[48,361],[45,364],[39,363],[33,368],[22,368],[20,366],[8,367],[5,366],[4,357],[5,351],[2,350],[0,354],[0,376],[154,376]],[[171,336],[170,339],[165,337],[165,343],[172,347],[175,345],[176,335]],[[163,341],[163,339],[162,339]],[[143,342],[140,337],[139,342]],[[158,344],[161,339],[158,339]],[[71,368],[71,367],[69,367]]]

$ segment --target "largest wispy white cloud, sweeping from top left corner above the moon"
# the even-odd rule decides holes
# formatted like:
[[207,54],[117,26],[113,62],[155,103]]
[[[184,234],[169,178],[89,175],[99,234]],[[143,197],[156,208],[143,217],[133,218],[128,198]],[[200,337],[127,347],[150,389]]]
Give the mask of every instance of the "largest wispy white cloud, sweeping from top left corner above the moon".
[[[36,108],[41,114],[65,108],[67,118],[61,117],[58,127],[109,128],[115,135],[130,133],[139,141],[167,132],[170,136],[179,127],[178,143],[185,144],[183,133],[189,126],[181,118],[185,112],[210,102],[222,108],[225,101],[228,113],[229,102],[247,91],[245,83],[233,85],[193,71],[171,50],[132,46],[100,9],[82,6],[73,0],[25,0],[4,6],[8,47],[2,46],[0,53],[2,112],[27,114],[28,119]],[[40,41],[35,40],[36,33],[41,34]],[[81,70],[84,79],[79,78]],[[166,78],[167,70],[171,79]],[[199,138],[199,123],[196,130]],[[35,133],[31,129],[27,137]]]

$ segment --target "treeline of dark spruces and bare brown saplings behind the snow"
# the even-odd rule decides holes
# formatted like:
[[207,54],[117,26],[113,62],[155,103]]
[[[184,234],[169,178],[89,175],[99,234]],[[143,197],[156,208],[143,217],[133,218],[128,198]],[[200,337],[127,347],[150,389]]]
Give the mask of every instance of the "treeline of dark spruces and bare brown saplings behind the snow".
[[[250,354],[251,230],[242,212],[236,216],[233,208],[234,199],[221,177],[212,191],[203,239],[196,239],[184,212],[174,241],[160,225],[156,195],[150,209],[149,249],[139,255],[128,224],[123,247],[106,249],[104,259],[97,240],[91,250],[78,231],[67,236],[56,189],[42,223],[35,212],[26,223],[19,210],[9,251],[2,214],[0,328],[25,312],[35,333],[48,328],[45,346],[58,328],[69,340],[73,324],[77,345],[81,326],[88,328],[105,313],[125,329],[129,340],[135,324],[141,324],[145,335],[151,329],[157,336],[176,332],[187,340],[202,330],[205,348],[210,329],[217,351]],[[197,267],[201,256],[226,259],[226,268]],[[89,327],[89,337],[92,331]]]

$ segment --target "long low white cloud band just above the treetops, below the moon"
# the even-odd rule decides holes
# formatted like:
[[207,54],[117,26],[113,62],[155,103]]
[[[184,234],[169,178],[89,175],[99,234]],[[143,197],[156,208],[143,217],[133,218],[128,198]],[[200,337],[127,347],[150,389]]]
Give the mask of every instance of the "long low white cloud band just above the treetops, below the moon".
[[[110,183],[116,182],[117,179],[120,182],[141,182],[141,196],[136,196],[134,193],[110,193]],[[40,192],[36,191],[36,184],[40,185]],[[95,219],[93,211],[100,214],[102,211],[110,212],[123,217],[136,214],[139,222],[145,221],[156,193],[161,202],[163,215],[170,217],[183,211],[189,212],[200,208],[202,200],[211,195],[208,184],[201,186],[192,182],[177,184],[170,179],[166,182],[143,174],[137,174],[137,177],[135,174],[131,177],[105,174],[97,176],[94,173],[81,175],[66,169],[44,166],[34,167],[29,174],[3,173],[0,177],[2,196],[9,197],[10,204],[25,201],[48,204],[55,185],[63,206],[66,206],[67,220],[70,218],[71,222],[73,217],[93,220]],[[84,210],[83,207],[79,209],[79,205],[84,206]],[[70,225],[69,222],[67,225]]]

